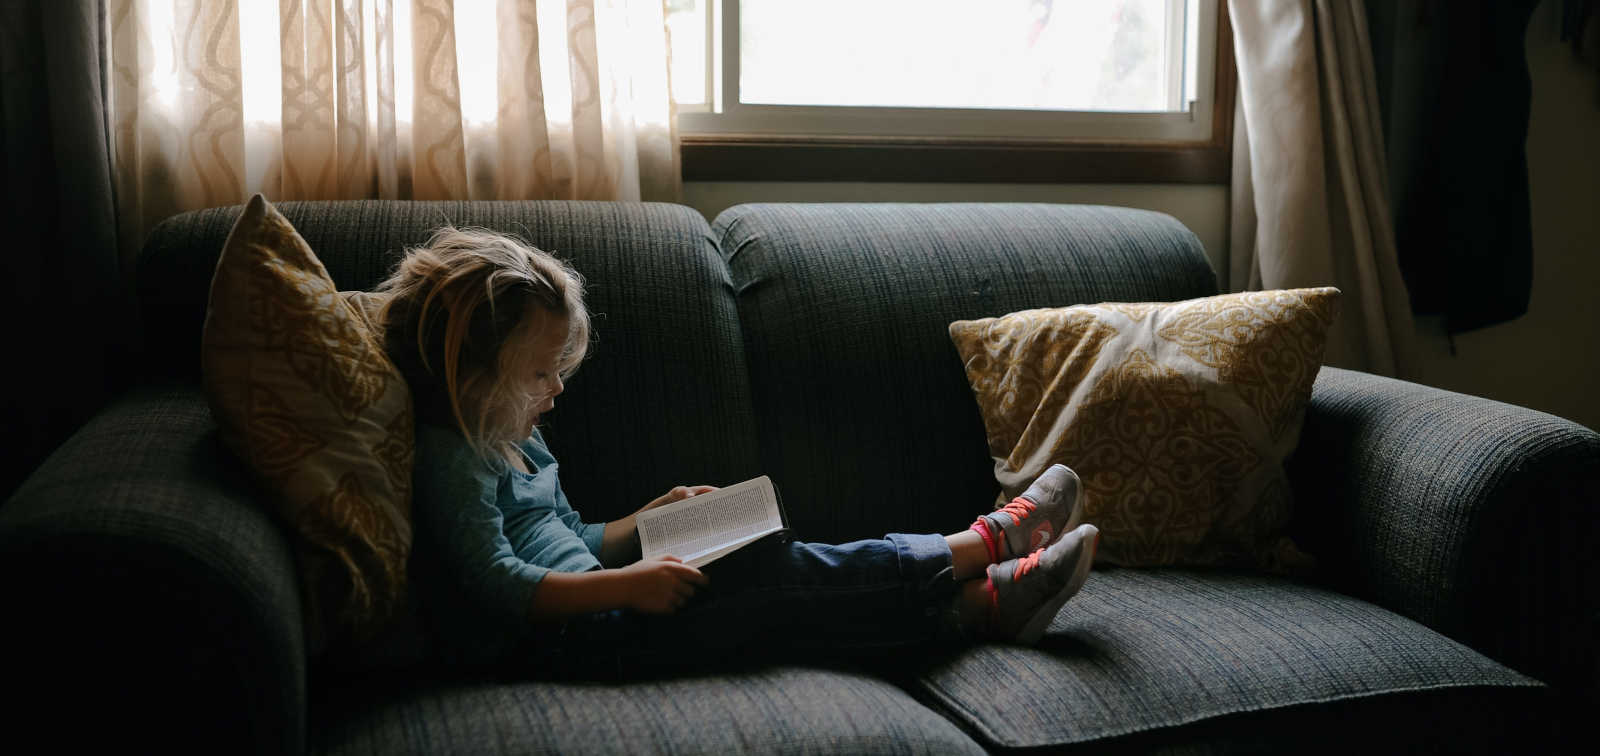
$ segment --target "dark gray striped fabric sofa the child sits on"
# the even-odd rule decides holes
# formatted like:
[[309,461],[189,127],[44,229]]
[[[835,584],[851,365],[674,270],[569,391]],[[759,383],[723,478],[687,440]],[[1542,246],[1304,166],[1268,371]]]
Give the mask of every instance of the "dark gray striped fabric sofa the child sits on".
[[[590,282],[598,341],[546,437],[600,521],[771,476],[805,540],[954,532],[995,495],[950,320],[1216,293],[1173,218],[1069,205],[286,202],[341,288],[451,221]],[[208,753],[1381,753],[1523,750],[1594,711],[1600,436],[1325,368],[1291,460],[1315,580],[1102,569],[1038,647],[720,660],[531,681],[427,662],[403,621],[309,658],[283,530],[198,388],[238,208],[138,259],[136,388],[0,508],[8,738]],[[408,615],[411,618],[411,615]],[[1562,740],[1562,738],[1568,740]],[[16,740],[13,740],[16,742]]]

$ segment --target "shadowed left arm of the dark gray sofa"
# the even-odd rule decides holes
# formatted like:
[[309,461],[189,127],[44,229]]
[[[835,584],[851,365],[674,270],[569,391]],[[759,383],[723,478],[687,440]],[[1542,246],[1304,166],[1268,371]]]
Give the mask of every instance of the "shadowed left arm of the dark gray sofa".
[[117,399],[0,508],[0,597],[8,727],[51,750],[306,748],[294,557],[194,386]]

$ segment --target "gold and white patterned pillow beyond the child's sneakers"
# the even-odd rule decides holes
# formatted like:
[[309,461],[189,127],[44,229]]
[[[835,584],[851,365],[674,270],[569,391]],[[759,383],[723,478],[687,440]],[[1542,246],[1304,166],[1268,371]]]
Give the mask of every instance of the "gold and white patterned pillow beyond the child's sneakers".
[[1309,569],[1283,461],[1338,308],[1325,287],[950,324],[1000,501],[1062,463],[1101,564]]

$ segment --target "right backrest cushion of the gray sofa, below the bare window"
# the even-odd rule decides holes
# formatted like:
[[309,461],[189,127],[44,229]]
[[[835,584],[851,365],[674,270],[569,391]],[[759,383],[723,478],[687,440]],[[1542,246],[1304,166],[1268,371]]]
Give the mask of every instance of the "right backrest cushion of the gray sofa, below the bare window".
[[950,532],[998,485],[952,320],[1216,293],[1198,239],[1085,205],[739,205],[738,288],[762,469],[802,538]]

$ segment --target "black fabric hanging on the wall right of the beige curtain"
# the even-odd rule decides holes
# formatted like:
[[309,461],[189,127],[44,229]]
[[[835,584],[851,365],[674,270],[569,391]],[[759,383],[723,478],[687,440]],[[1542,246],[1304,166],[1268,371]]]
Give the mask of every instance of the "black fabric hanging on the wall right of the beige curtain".
[[1520,317],[1533,288],[1528,77],[1538,0],[1368,0],[1400,272],[1448,333]]

